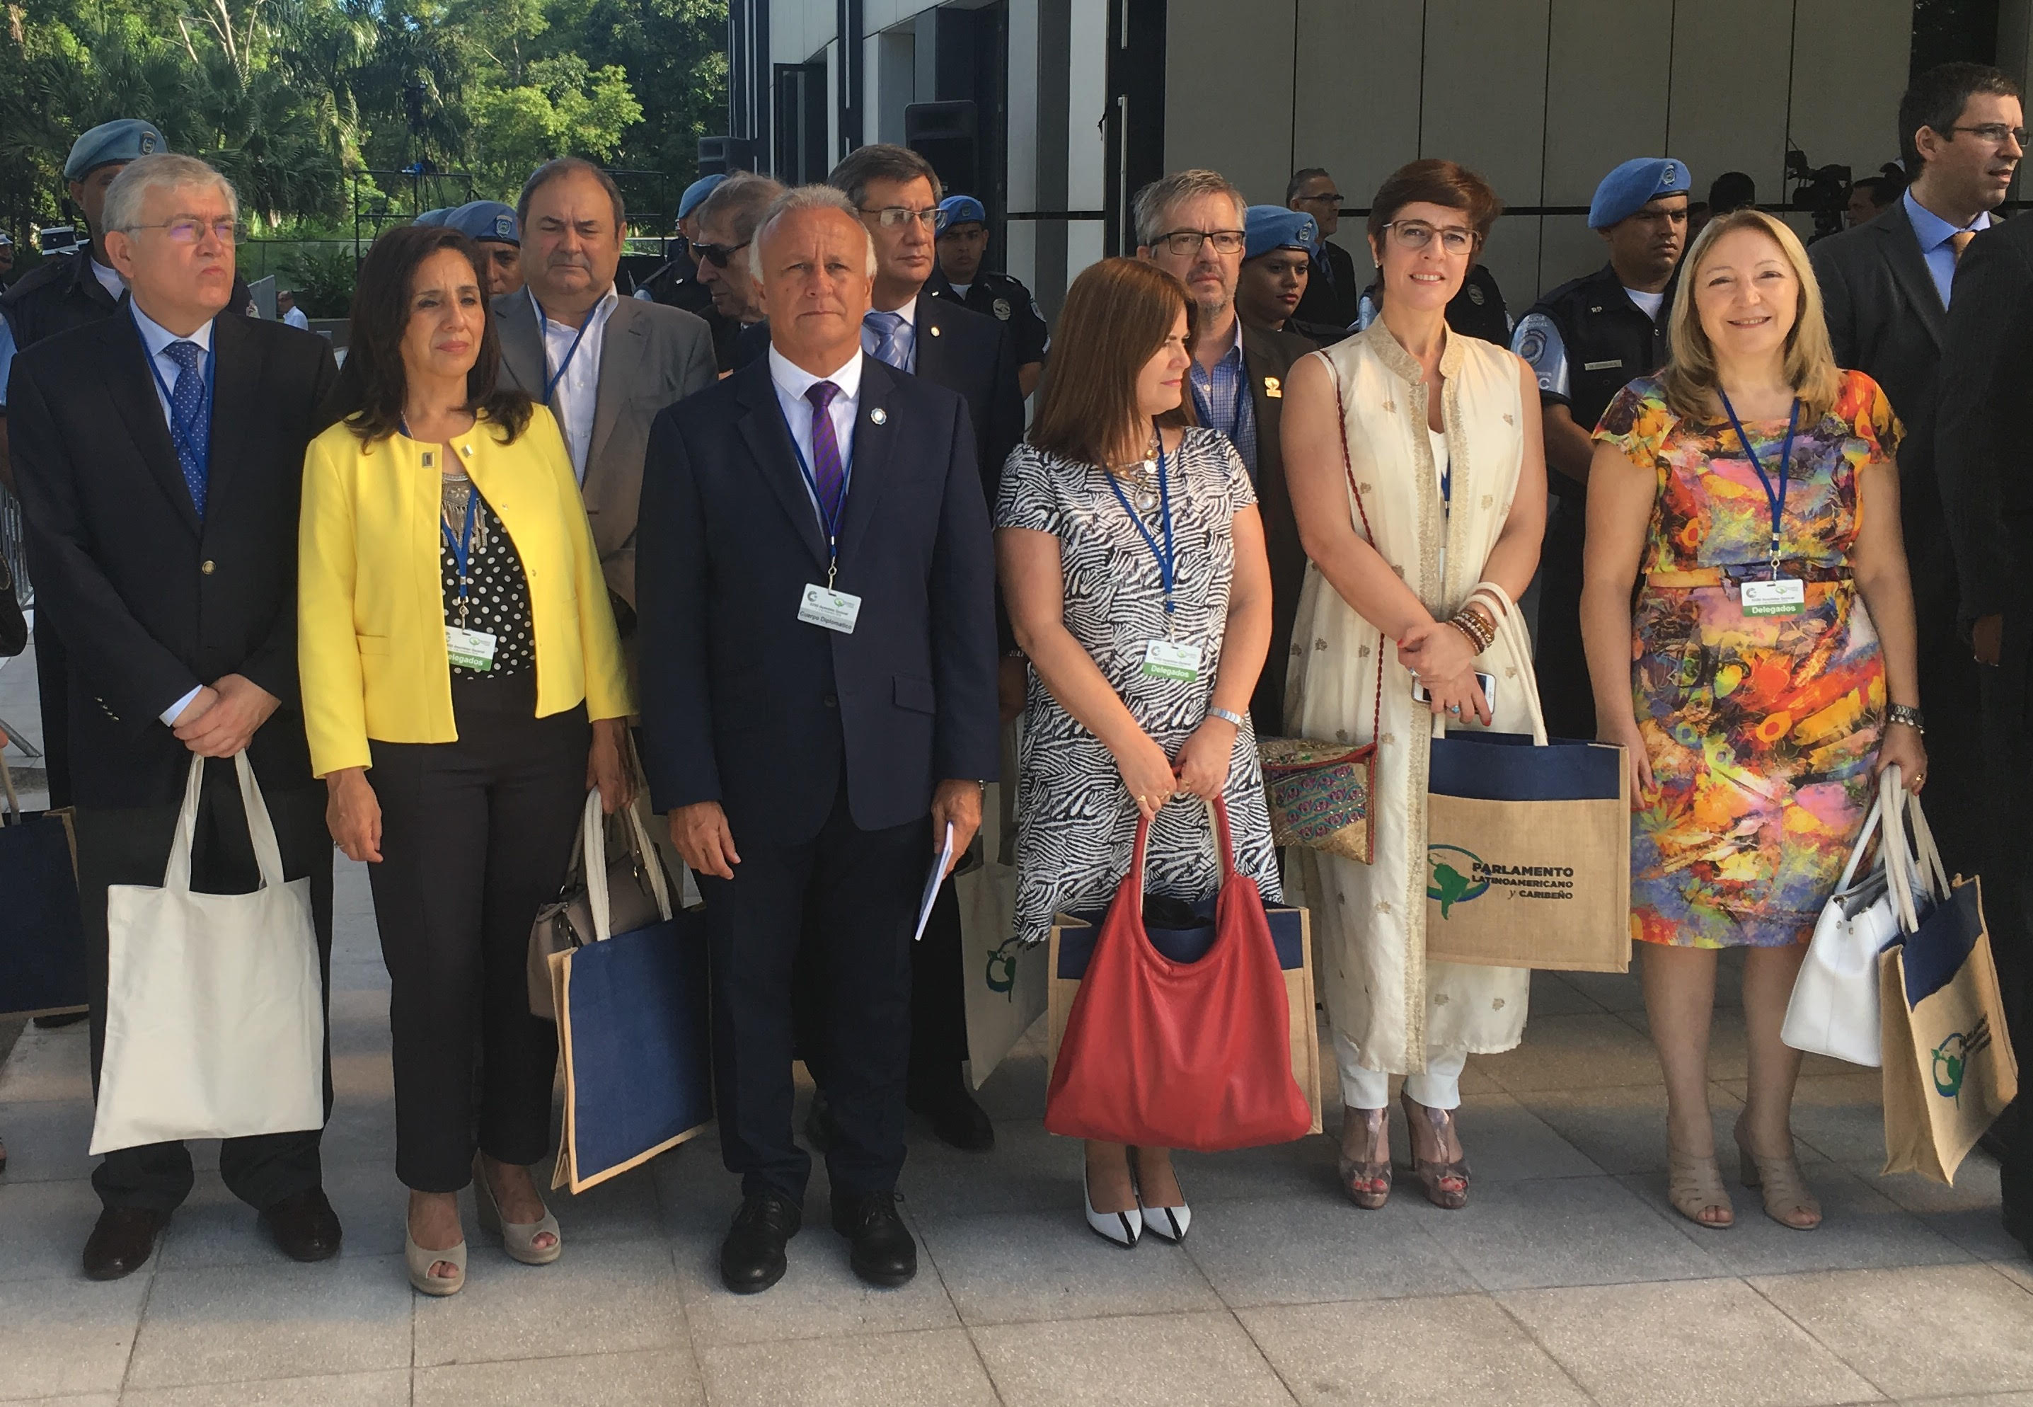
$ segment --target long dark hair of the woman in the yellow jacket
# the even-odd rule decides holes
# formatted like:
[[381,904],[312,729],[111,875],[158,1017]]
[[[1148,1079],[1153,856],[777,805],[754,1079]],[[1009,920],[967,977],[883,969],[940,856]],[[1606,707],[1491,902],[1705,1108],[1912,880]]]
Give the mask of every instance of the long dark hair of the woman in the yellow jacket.
[[409,376],[403,370],[403,333],[409,331],[411,283],[417,266],[439,250],[457,250],[474,266],[480,285],[480,354],[466,372],[466,405],[476,419],[490,421],[512,441],[529,425],[529,396],[514,386],[496,386],[500,376],[500,338],[486,303],[488,277],[482,270],[480,246],[457,230],[443,226],[403,226],[386,230],[360,260],[354,285],[352,331],[348,333],[346,366],[331,388],[327,415],[346,421],[362,445],[386,439],[403,429],[403,403]]

